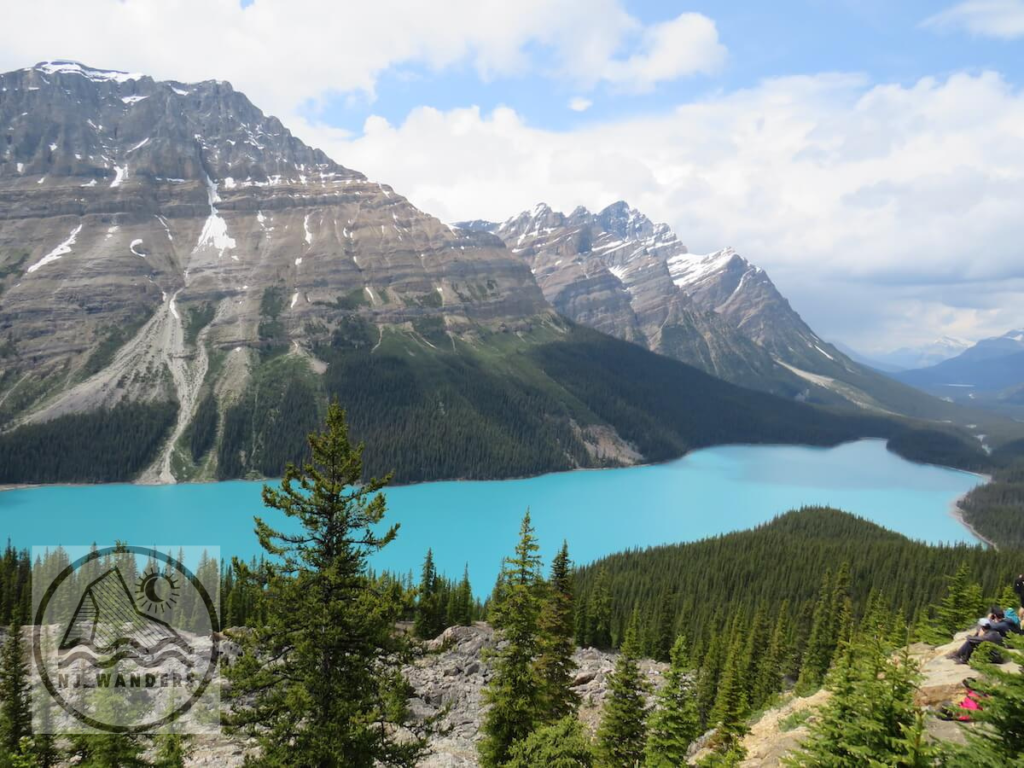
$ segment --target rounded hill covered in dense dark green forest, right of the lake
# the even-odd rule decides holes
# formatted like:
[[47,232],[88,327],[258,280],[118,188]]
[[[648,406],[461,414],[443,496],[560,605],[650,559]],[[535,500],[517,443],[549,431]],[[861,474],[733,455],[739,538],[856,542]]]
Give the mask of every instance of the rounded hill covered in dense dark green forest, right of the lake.
[[1021,553],[963,544],[932,547],[845,512],[810,508],[753,530],[612,555],[581,568],[578,586],[591,622],[594,606],[611,606],[613,643],[634,611],[648,649],[659,637],[678,633],[699,646],[733,621],[745,629],[760,614],[788,621],[799,654],[826,573],[848,570],[854,616],[864,614],[869,599],[879,599],[887,610],[918,624],[962,564],[985,594],[995,595],[1020,572]]

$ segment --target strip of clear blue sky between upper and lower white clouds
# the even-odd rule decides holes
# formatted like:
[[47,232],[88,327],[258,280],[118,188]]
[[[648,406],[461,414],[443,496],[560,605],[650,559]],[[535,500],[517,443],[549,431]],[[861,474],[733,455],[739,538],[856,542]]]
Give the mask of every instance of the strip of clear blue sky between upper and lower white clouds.
[[[745,0],[681,5],[642,0],[625,6],[644,24],[669,20],[681,10],[713,18],[729,49],[724,68],[711,77],[660,84],[648,93],[607,85],[581,89],[572,82],[545,77],[543,71],[554,63],[550,51],[535,46],[531,55],[539,71],[529,74],[481,78],[468,61],[441,71],[399,66],[381,75],[373,95],[344,94],[326,104],[308,102],[301,113],[357,133],[371,115],[397,122],[422,104],[438,110],[475,104],[484,112],[506,105],[531,125],[562,130],[624,113],[669,110],[717,91],[750,88],[770,77],[856,72],[874,82],[912,83],[926,76],[994,70],[1019,82],[1024,73],[1018,41],[937,34],[923,26],[937,10],[934,1]],[[585,114],[567,106],[578,95],[593,101]]]

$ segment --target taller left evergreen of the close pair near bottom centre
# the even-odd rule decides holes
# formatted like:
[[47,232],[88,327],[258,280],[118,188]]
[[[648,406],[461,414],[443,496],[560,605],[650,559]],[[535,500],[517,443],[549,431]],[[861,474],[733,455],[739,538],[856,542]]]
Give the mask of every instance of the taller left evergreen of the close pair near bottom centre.
[[479,745],[485,768],[504,765],[512,744],[526,738],[541,721],[541,680],[534,666],[542,587],[538,550],[527,510],[515,554],[505,560],[488,614],[505,644],[495,652],[494,676],[483,691],[484,701],[490,705]]

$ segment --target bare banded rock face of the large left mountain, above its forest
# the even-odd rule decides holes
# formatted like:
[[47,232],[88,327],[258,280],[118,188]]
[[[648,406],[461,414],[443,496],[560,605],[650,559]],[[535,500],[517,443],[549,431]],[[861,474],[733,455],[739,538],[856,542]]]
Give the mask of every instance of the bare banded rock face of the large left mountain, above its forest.
[[[356,313],[383,335],[550,316],[500,240],[453,230],[222,82],[0,75],[0,423],[177,399]],[[215,383],[215,382],[211,382]],[[166,472],[164,473],[166,479]]]

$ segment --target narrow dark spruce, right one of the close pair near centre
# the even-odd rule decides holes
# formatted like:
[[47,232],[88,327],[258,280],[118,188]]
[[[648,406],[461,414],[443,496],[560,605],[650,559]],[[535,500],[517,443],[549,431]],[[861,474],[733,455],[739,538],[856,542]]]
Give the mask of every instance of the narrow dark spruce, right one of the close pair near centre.
[[551,578],[539,623],[540,654],[537,675],[541,683],[541,718],[555,723],[574,715],[580,695],[572,690],[577,664],[572,660],[573,642],[572,563],[568,544],[551,561]]

